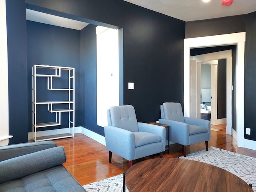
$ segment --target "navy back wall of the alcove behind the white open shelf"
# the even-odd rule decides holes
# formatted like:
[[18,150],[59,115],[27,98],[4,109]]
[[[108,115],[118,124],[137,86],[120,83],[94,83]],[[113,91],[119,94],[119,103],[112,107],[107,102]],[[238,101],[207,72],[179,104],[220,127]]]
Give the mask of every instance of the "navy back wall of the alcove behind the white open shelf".
[[[81,72],[80,72],[80,31],[38,22],[27,21],[27,47],[28,47],[28,132],[32,132],[32,66],[35,64],[64,66],[75,68],[75,126],[81,125]],[[68,75],[62,74],[63,81],[67,83]],[[47,78],[37,78],[38,101],[68,100],[61,98],[64,91],[47,91]],[[58,79],[54,79],[54,87],[65,88]],[[59,85],[61,84],[61,85]],[[42,92],[40,92],[42,90]],[[67,96],[66,92],[66,96]],[[52,122],[55,115],[47,111],[46,105],[40,105],[39,114],[44,118],[39,118],[42,122]],[[40,130],[50,130],[68,127],[68,113],[62,113],[62,124],[60,126],[40,128]]]

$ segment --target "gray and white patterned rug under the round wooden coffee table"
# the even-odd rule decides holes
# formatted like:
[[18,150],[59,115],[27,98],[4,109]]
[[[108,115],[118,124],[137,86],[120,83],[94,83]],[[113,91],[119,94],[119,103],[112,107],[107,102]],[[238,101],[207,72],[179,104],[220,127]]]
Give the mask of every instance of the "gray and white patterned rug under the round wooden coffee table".
[[[256,192],[256,158],[211,147],[180,158],[208,163],[242,178]],[[123,192],[123,174],[83,186],[86,192]],[[126,192],[128,192],[126,188]]]

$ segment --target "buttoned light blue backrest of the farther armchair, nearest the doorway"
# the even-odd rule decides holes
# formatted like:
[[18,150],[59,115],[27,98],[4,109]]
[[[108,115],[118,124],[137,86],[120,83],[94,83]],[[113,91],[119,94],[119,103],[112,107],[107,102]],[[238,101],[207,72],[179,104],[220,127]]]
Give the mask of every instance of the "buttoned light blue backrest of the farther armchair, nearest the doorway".
[[160,106],[161,118],[179,122],[185,122],[180,103],[163,103]]

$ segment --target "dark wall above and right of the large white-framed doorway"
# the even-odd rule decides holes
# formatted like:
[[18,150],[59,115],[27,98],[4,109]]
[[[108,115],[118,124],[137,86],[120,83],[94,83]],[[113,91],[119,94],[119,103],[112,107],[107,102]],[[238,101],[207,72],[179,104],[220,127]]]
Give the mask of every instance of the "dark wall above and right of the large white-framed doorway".
[[185,36],[192,38],[244,31],[246,32],[244,93],[240,94],[244,94],[244,132],[246,127],[251,128],[251,135],[244,134],[244,137],[256,140],[256,12],[213,20],[186,22]]

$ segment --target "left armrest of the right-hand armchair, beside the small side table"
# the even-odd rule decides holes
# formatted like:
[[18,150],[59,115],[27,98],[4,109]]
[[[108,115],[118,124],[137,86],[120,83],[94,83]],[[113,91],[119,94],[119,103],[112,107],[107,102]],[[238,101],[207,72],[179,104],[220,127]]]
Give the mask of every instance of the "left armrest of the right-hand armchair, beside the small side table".
[[170,126],[170,140],[180,143],[182,145],[188,145],[189,126],[186,123],[159,119],[159,123],[167,124]]

